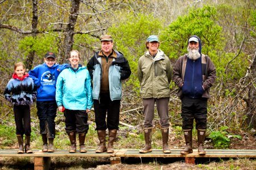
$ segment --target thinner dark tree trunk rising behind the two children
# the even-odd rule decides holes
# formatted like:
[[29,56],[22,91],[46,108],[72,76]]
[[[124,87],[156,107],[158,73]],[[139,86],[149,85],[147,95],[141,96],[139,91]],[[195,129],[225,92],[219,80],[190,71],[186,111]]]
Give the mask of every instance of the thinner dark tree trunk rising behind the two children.
[[[33,14],[32,23],[31,23],[32,24],[32,37],[34,37],[34,39],[36,39],[36,29],[38,26],[38,1],[37,0],[33,0],[32,14]],[[32,48],[32,46],[30,48]],[[35,57],[35,50],[31,50],[31,52],[28,54],[27,59],[25,61],[25,66],[28,70],[32,69],[34,57]]]

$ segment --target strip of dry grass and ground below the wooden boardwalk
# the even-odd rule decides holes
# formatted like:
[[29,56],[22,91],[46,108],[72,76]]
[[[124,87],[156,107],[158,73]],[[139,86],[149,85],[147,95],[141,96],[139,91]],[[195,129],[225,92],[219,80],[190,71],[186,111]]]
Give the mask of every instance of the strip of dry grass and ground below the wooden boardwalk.
[[[5,165],[3,165],[5,164]],[[2,169],[34,169],[32,158],[0,158]],[[164,169],[255,169],[255,159],[218,160],[205,164],[186,164],[182,161],[174,163],[138,162],[130,160],[127,163],[110,165],[108,158],[52,158],[51,169],[90,169],[90,170],[164,170]]]

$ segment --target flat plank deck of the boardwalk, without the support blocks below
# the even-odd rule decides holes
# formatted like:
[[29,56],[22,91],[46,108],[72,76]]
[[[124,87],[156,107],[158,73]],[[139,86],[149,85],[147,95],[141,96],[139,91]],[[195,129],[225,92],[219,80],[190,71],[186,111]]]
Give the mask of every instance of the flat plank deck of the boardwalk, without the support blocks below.
[[171,150],[171,154],[164,154],[162,150],[153,150],[146,154],[139,153],[139,150],[114,150],[113,154],[96,153],[95,150],[88,150],[86,153],[69,153],[69,150],[55,150],[55,152],[42,152],[33,150],[33,154],[17,154],[18,150],[0,150],[1,157],[162,157],[162,158],[256,158],[256,150],[206,150],[206,155],[198,155],[197,150],[188,155],[181,155],[181,150]]

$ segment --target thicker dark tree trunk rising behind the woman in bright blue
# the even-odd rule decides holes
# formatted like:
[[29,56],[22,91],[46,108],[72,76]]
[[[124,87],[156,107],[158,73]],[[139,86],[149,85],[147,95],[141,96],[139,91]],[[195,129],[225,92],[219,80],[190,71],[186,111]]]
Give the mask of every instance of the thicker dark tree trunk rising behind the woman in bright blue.
[[65,29],[65,39],[64,39],[64,54],[63,52],[60,52],[60,56],[63,56],[62,62],[68,61],[69,52],[72,50],[73,46],[73,36],[74,36],[74,30],[76,25],[76,20],[78,16],[80,6],[80,0],[72,0],[71,1],[71,9],[70,9],[70,15],[69,15],[69,22],[67,25],[67,28]]

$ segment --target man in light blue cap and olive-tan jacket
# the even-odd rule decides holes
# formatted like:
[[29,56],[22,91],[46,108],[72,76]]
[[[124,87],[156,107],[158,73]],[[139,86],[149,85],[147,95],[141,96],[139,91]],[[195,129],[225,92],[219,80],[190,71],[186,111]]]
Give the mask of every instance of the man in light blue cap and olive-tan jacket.
[[144,137],[146,146],[139,150],[141,153],[151,152],[152,120],[154,118],[154,105],[160,117],[162,130],[163,152],[171,153],[168,147],[169,116],[168,103],[170,98],[169,84],[172,78],[170,59],[158,49],[159,40],[155,35],[146,41],[147,52],[139,58],[138,78],[141,83],[141,96],[144,106]]

